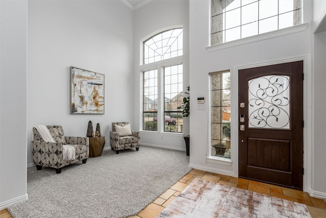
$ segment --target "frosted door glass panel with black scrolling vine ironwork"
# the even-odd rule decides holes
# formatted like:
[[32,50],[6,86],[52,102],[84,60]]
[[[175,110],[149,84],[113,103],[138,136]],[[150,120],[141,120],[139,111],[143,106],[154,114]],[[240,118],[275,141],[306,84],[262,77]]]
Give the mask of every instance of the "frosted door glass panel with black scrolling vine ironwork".
[[248,82],[249,128],[290,129],[290,77],[263,76]]

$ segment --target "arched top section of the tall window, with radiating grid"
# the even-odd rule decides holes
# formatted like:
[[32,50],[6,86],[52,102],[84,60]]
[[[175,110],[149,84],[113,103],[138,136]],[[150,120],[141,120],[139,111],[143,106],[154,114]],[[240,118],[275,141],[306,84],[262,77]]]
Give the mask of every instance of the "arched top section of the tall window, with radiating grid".
[[143,64],[183,55],[182,28],[160,32],[143,44]]

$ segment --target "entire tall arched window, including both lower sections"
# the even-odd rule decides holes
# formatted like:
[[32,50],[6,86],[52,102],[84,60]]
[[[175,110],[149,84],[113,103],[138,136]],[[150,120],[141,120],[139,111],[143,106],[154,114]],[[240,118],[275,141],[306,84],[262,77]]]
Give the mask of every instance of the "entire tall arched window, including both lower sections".
[[175,58],[183,55],[182,32],[170,29],[143,42],[143,66],[153,68],[143,72],[143,130],[182,132],[183,65]]

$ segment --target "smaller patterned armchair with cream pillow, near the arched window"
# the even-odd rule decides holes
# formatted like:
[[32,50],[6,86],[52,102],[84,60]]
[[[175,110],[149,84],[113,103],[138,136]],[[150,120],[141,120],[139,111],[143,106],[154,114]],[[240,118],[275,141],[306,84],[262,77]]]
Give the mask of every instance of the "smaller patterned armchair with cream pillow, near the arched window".
[[141,145],[141,133],[140,131],[130,130],[129,134],[119,134],[119,130],[116,130],[116,127],[120,126],[125,128],[129,125],[128,122],[115,122],[112,123],[112,131],[110,131],[110,144],[112,150],[115,150],[117,154],[119,154],[120,150],[136,148],[136,151],[139,150]]

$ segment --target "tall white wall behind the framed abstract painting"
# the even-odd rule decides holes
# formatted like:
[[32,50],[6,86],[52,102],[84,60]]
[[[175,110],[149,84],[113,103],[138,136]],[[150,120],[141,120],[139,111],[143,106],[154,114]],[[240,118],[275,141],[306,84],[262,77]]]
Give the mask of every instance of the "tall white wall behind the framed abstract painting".
[[[132,121],[132,39],[133,11],[121,1],[29,1],[28,164],[36,125],[86,136],[92,120],[94,130],[101,126],[104,149],[111,148],[111,123]],[[70,66],[105,75],[103,115],[69,113]]]

